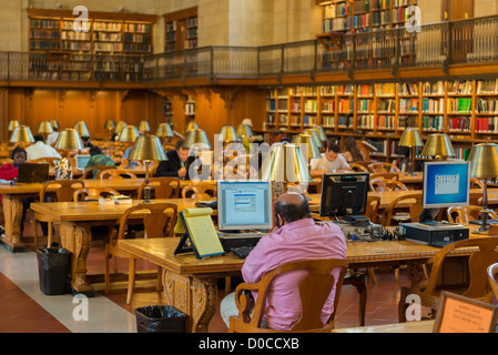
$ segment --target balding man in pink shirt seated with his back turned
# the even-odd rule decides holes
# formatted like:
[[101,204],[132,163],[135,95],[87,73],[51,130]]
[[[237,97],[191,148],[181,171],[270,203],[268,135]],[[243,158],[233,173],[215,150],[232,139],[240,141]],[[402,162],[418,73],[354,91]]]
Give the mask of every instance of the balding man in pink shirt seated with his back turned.
[[[268,271],[288,262],[346,257],[346,239],[343,231],[332,222],[315,224],[307,199],[303,195],[282,195],[275,203],[275,222],[276,229],[263,236],[245,260],[242,267],[244,282],[260,282]],[[337,280],[339,271],[335,270],[333,274]],[[301,298],[297,290],[304,275],[305,272],[295,271],[275,278],[263,316],[265,326],[288,331],[299,320]],[[334,296],[335,286],[322,310],[324,323],[334,311]],[[237,316],[233,293],[222,301],[221,314],[227,326],[230,316]]]

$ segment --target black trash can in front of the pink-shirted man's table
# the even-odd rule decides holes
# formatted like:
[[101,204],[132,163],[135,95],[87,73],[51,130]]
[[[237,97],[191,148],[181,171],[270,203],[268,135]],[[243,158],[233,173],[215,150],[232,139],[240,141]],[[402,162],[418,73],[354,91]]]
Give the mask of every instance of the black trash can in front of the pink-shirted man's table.
[[173,306],[140,307],[135,316],[138,333],[185,333],[186,314]]

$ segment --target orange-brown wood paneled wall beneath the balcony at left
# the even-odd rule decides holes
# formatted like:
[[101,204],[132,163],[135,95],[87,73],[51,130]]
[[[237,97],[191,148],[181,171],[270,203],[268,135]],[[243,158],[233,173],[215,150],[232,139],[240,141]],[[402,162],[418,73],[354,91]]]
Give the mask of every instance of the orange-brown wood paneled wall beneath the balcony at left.
[[9,138],[6,130],[9,120],[29,125],[33,134],[40,121],[55,119],[61,129],[65,129],[84,120],[92,135],[105,133],[108,119],[133,125],[148,120],[154,133],[159,123],[165,121],[163,105],[166,98],[173,104],[174,130],[183,134],[187,95],[195,101],[195,121],[212,143],[214,134],[224,124],[236,128],[245,118],[253,120],[254,128],[261,128],[264,122],[266,92],[254,87],[201,88],[186,92],[9,88],[0,89],[1,141]]

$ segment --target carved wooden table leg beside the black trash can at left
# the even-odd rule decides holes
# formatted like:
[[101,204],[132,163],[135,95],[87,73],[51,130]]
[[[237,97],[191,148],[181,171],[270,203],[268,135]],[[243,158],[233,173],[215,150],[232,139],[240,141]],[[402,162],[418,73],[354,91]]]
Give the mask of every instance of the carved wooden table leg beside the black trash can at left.
[[61,223],[62,247],[70,251],[71,258],[71,287],[75,293],[94,296],[92,285],[87,281],[87,256],[90,252],[92,234],[90,225]]

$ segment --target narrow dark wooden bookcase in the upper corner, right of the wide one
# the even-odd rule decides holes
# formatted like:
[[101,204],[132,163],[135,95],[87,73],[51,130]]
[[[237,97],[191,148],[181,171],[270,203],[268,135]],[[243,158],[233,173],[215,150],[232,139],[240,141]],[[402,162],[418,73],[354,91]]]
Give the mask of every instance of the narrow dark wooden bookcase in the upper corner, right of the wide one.
[[165,52],[197,48],[197,7],[163,14]]

